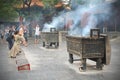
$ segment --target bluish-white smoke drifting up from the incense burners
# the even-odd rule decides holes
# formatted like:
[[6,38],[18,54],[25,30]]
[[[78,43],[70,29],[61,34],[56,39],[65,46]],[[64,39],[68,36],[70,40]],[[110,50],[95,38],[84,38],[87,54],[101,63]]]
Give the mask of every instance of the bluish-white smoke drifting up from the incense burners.
[[64,12],[53,21],[44,24],[43,31],[49,32],[50,28],[68,29],[69,35],[88,36],[91,28],[110,18],[111,5],[102,0],[89,1],[78,5],[75,10]]

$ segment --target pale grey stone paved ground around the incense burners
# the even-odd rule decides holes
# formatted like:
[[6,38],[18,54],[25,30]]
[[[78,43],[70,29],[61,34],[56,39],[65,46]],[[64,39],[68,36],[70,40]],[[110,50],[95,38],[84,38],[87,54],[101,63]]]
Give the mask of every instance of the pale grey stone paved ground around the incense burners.
[[80,72],[80,61],[68,62],[65,42],[60,43],[58,49],[46,49],[29,39],[28,47],[22,46],[22,49],[31,70],[17,71],[15,59],[8,58],[7,44],[0,43],[0,80],[120,80],[120,38],[111,40],[111,47],[110,65],[98,71],[93,67],[95,63],[88,60],[87,71]]

